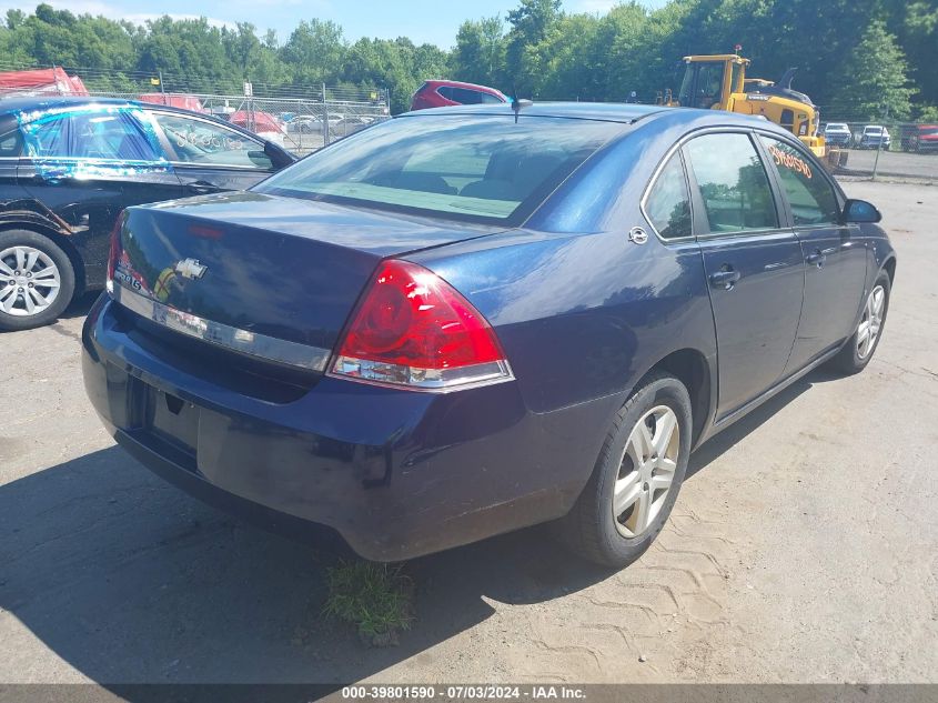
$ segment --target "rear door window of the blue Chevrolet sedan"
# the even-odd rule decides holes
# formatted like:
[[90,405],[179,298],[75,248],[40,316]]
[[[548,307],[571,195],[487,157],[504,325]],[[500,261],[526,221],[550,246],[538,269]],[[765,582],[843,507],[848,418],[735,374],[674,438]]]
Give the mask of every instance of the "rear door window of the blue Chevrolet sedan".
[[746,134],[704,134],[685,147],[714,234],[778,227],[775,200]]

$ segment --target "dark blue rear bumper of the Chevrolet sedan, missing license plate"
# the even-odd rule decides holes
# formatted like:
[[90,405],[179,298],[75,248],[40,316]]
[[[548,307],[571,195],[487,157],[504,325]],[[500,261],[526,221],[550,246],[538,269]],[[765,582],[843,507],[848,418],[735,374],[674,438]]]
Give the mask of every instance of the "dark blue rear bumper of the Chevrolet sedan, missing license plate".
[[[102,295],[88,315],[82,370],[120,444],[196,498],[327,546],[339,535],[374,561],[565,514],[621,402],[536,414],[514,382],[434,394],[322,378],[299,400],[273,403],[171,365],[122,329],[113,305]],[[152,389],[191,409],[188,443],[142,420],[141,393]]]

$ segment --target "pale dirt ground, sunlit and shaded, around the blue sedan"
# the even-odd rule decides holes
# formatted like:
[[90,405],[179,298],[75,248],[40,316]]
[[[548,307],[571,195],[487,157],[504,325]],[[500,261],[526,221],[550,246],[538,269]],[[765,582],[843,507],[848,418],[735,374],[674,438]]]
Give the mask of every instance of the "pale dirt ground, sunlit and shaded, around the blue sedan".
[[311,549],[113,446],[81,382],[89,301],[3,335],[0,682],[938,681],[938,188],[846,188],[899,255],[869,368],[702,448],[619,573],[538,529],[412,562],[395,647],[323,621]]

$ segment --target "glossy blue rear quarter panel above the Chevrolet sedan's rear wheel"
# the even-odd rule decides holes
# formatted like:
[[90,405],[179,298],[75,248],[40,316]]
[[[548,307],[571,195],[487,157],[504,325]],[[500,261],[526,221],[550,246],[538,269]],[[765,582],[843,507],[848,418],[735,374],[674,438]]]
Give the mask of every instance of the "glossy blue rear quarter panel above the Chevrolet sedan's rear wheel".
[[[662,124],[611,145],[514,230],[412,254],[466,295],[496,329],[527,409],[546,415],[599,403],[598,453],[613,413],[669,353],[710,365],[716,339],[695,242],[663,243],[638,203],[667,147],[686,129]],[[649,232],[628,240],[633,227]],[[595,456],[595,455],[594,455]],[[592,470],[592,460],[584,462]]]

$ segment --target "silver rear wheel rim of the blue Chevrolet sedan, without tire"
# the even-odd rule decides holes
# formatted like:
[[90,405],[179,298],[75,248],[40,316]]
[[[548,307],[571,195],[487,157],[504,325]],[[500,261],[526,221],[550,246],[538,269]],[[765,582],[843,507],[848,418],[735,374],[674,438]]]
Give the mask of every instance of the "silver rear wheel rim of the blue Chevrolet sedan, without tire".
[[680,429],[667,405],[642,415],[632,429],[613,489],[613,518],[625,538],[636,538],[657,518],[677,470]]

